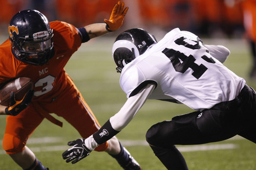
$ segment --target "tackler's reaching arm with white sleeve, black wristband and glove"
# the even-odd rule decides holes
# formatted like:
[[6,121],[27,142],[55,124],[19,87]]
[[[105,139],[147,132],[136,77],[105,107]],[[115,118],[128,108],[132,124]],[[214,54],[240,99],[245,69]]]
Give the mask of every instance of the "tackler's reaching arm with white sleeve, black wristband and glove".
[[[87,139],[70,141],[68,145],[73,146],[62,154],[66,162],[76,163],[87,157],[99,144],[108,141],[128,125],[139,109],[143,106],[148,96],[155,89],[155,85],[148,84],[140,92],[125,102],[121,110],[112,116],[97,132]],[[78,152],[79,151],[79,152]]]

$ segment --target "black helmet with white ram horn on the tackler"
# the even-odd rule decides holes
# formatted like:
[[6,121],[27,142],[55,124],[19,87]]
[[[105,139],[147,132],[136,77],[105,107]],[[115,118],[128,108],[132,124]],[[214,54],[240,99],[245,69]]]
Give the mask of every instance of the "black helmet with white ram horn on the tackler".
[[117,72],[121,72],[127,63],[143,54],[155,43],[157,43],[155,36],[143,29],[130,29],[119,34],[112,48]]

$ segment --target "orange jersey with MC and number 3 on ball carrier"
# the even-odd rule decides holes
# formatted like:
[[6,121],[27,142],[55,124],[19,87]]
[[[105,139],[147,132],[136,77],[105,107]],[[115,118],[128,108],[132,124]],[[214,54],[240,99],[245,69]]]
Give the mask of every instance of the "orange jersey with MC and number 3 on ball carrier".
[[34,82],[33,101],[49,102],[66,86],[65,65],[81,45],[77,29],[60,21],[50,22],[53,29],[55,55],[45,65],[31,65],[17,60],[11,53],[11,43],[0,45],[0,83],[14,77],[29,77]]

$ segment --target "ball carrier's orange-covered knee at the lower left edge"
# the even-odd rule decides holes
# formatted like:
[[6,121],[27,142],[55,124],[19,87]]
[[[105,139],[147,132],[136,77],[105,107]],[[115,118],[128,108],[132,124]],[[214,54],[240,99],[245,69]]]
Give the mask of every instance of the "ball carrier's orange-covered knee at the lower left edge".
[[16,154],[23,151],[25,142],[10,134],[5,134],[3,139],[3,149],[7,154]]

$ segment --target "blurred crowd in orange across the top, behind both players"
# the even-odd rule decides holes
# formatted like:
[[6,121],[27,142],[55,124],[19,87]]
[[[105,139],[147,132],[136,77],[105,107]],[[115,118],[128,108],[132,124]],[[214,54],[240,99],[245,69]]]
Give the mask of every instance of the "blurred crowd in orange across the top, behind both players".
[[[0,0],[1,34],[20,10],[36,9],[49,21],[61,20],[83,27],[109,19],[117,0]],[[244,35],[246,4],[255,0],[123,0],[129,6],[124,28],[143,27],[169,31],[179,27],[209,37],[237,38]],[[248,14],[248,12],[247,12]]]

